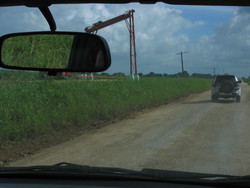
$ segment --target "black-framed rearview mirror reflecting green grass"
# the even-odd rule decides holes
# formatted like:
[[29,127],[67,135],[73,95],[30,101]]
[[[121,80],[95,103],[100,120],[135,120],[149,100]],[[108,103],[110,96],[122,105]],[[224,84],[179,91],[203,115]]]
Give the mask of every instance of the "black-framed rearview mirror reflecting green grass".
[[7,69],[101,72],[111,57],[106,40],[77,32],[32,32],[0,38],[0,67]]

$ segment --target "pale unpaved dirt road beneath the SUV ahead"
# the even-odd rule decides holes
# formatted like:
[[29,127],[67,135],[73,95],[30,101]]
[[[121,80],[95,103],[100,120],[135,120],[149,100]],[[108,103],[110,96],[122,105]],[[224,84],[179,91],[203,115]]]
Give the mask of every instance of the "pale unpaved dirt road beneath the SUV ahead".
[[71,162],[140,170],[158,168],[250,174],[250,87],[242,101],[210,101],[210,92],[94,130],[13,165]]

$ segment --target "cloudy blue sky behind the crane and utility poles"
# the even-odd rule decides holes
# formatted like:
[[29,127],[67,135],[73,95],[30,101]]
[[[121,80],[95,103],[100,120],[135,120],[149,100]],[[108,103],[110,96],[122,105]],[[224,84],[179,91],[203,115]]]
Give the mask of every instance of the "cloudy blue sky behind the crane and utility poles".
[[[138,72],[175,74],[235,74],[250,76],[250,8],[173,6],[164,3],[140,5],[82,4],[53,5],[51,12],[58,31],[80,31],[135,10]],[[36,8],[0,8],[0,34],[47,31],[49,26]],[[112,56],[109,73],[129,74],[129,32],[125,22],[98,31]]]

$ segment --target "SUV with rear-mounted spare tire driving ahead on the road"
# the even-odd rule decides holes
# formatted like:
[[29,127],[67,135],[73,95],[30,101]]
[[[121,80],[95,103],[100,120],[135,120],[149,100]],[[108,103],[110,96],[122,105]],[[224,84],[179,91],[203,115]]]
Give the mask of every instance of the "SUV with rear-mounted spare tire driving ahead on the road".
[[212,101],[218,98],[235,98],[236,102],[240,102],[241,98],[241,80],[234,75],[217,75],[213,80],[211,92]]

